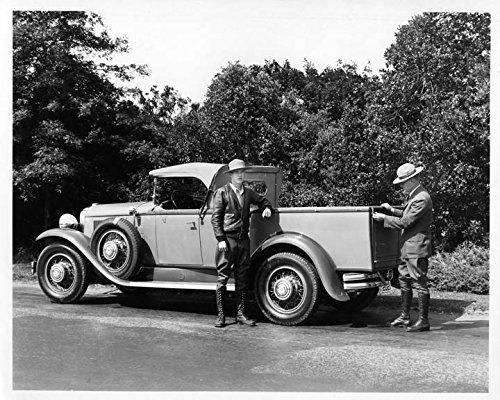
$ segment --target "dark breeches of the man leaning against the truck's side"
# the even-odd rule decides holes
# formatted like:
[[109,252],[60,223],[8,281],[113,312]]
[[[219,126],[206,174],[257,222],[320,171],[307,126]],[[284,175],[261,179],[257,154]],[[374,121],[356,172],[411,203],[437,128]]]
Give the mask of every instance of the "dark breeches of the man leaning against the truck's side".
[[215,253],[217,266],[217,288],[226,287],[227,281],[234,271],[236,290],[248,289],[248,270],[250,269],[250,240],[227,237],[228,249]]

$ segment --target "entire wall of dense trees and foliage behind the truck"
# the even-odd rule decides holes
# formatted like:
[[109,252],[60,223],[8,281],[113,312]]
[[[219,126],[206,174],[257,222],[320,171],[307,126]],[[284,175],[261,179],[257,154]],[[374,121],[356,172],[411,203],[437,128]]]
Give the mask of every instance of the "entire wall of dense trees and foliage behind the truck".
[[119,80],[126,51],[98,16],[14,13],[14,243],[62,212],[144,199],[147,171],[234,157],[280,166],[284,206],[399,203],[403,162],[422,175],[438,250],[489,233],[490,17],[425,13],[401,26],[380,76],[339,62],[227,64],[203,104]]

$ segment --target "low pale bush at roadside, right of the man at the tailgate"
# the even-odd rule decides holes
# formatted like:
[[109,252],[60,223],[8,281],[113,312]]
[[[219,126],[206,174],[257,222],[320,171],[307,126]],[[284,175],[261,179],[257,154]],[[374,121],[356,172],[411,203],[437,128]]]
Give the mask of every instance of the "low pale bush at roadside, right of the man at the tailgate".
[[489,293],[489,249],[464,242],[430,259],[429,286],[451,292]]

